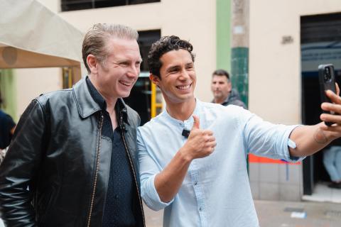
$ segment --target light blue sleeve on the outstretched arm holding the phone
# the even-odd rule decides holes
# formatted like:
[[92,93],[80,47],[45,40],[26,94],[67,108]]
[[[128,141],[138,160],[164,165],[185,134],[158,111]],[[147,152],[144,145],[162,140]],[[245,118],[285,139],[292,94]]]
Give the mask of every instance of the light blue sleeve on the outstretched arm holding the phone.
[[254,155],[287,162],[300,162],[304,157],[292,157],[289,147],[295,148],[295,141],[289,138],[291,132],[300,125],[285,126],[263,121],[251,114],[244,126],[244,143]]

